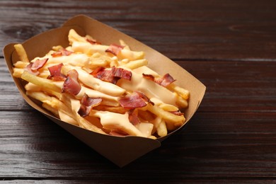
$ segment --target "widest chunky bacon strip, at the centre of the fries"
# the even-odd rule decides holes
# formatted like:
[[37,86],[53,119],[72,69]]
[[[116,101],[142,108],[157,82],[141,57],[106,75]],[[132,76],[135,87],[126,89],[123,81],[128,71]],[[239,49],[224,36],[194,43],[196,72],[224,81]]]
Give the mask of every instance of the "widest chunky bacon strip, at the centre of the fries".
[[119,79],[131,80],[132,72],[126,69],[112,67],[112,69],[105,69],[104,67],[98,67],[91,72],[91,75],[102,81],[116,84]]

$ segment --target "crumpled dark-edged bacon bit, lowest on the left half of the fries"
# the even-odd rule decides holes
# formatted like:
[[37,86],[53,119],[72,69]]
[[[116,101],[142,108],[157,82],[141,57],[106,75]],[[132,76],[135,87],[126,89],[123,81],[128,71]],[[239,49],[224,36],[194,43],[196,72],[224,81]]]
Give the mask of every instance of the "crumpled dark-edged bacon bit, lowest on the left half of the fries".
[[79,108],[79,115],[86,117],[89,115],[91,108],[99,105],[102,102],[102,98],[90,98],[86,93],[81,98],[81,107]]

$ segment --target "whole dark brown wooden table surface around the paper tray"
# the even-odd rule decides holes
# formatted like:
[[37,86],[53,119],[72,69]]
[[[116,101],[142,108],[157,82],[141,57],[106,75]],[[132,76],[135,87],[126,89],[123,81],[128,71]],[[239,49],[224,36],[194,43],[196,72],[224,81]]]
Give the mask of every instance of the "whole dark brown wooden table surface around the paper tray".
[[270,183],[276,178],[276,1],[0,1],[0,47],[85,14],[207,86],[185,129],[124,168],[30,108],[0,55],[3,183]]

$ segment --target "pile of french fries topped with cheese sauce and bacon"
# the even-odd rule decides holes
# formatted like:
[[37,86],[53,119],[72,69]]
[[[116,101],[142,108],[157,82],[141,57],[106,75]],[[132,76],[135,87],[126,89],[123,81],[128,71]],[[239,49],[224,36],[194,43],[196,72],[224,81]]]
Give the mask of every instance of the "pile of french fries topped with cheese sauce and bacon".
[[185,124],[180,109],[190,92],[146,67],[144,52],[102,45],[70,30],[69,45],[53,45],[44,57],[28,59],[14,45],[13,76],[28,83],[26,94],[64,122],[100,134],[156,139]]

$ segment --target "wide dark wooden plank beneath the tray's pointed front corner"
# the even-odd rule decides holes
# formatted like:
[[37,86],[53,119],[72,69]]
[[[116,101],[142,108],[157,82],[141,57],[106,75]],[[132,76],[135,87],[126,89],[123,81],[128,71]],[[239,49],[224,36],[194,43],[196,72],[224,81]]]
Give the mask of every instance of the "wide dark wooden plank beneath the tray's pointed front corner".
[[270,177],[276,171],[275,115],[197,113],[161,148],[117,169],[40,113],[0,112],[0,173],[73,179],[81,172],[98,180]]

